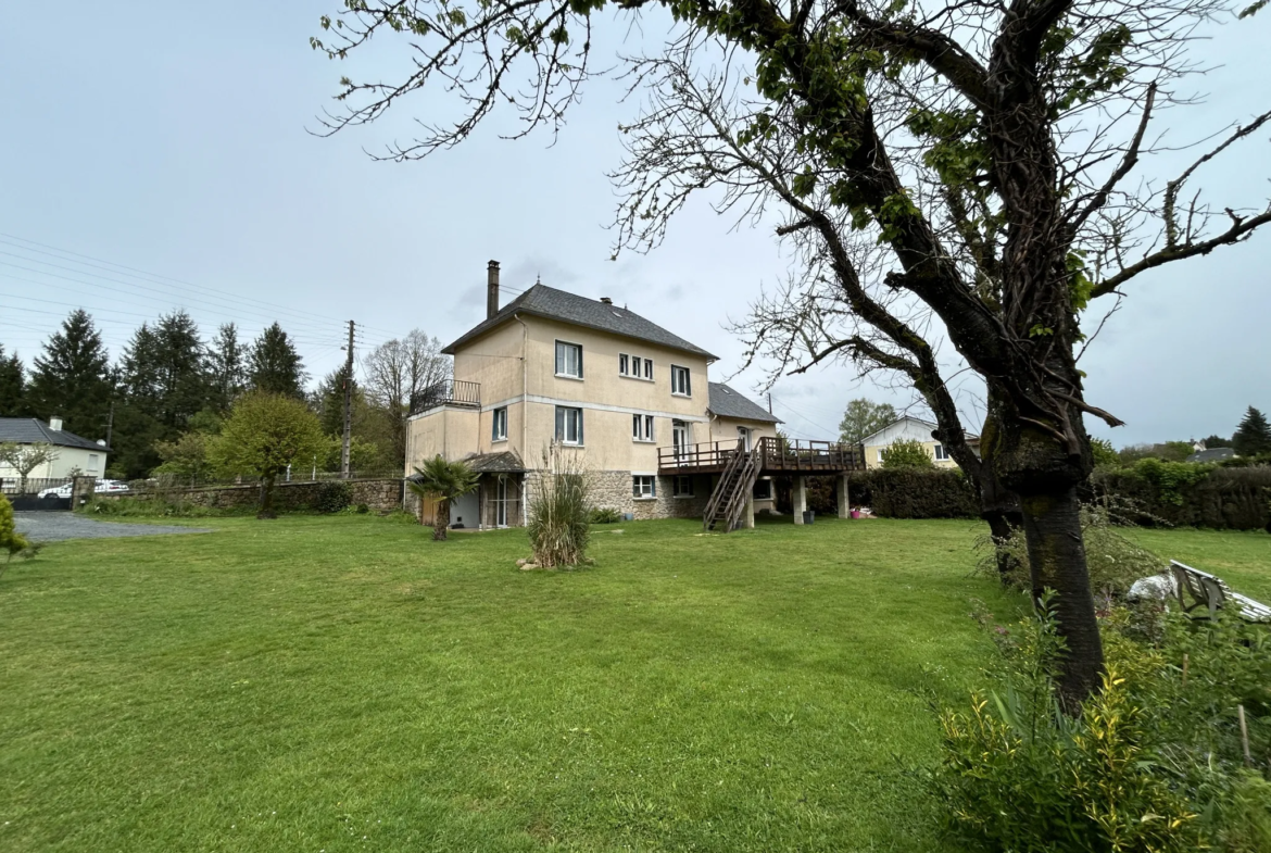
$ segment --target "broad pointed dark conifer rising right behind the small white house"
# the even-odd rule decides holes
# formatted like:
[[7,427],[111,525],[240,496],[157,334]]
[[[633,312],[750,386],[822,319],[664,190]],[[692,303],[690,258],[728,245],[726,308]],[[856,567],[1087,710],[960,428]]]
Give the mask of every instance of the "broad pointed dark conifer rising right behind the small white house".
[[85,439],[105,437],[113,389],[109,355],[88,311],[76,309],[36,356],[27,403],[47,421],[60,416],[65,430]]

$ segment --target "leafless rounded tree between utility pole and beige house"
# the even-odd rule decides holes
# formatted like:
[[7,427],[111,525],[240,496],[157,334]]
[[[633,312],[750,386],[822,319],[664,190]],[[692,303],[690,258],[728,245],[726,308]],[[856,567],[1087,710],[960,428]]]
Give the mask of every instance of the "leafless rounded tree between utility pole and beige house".
[[362,358],[362,370],[367,400],[389,420],[393,459],[404,465],[411,411],[426,389],[450,379],[454,372],[450,357],[441,355],[437,338],[414,329],[400,341],[394,338],[375,347]]

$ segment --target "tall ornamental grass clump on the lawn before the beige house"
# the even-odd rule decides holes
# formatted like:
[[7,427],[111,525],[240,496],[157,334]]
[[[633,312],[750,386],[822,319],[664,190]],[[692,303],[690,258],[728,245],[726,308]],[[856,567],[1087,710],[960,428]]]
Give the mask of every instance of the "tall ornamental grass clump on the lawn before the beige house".
[[586,559],[591,538],[587,473],[559,451],[549,453],[544,463],[547,473],[530,500],[534,562],[544,568],[577,566]]

